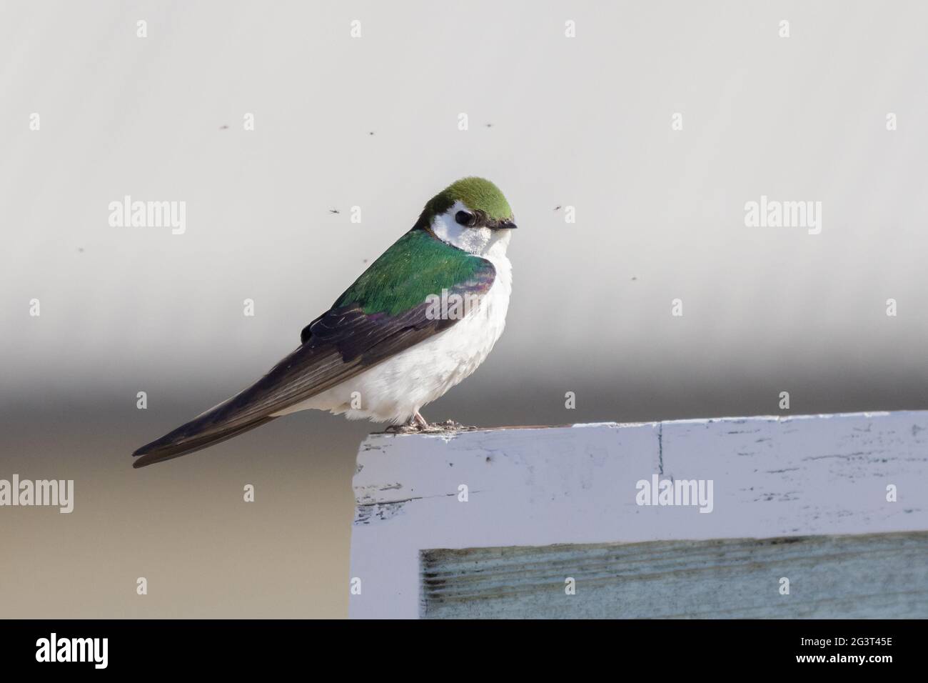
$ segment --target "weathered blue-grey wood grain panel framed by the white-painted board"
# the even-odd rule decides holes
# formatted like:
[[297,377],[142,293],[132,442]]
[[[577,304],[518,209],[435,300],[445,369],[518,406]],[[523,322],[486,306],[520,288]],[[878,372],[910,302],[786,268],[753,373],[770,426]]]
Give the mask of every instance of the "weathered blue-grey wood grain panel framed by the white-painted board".
[[421,561],[420,613],[432,619],[928,617],[928,532],[423,550]]

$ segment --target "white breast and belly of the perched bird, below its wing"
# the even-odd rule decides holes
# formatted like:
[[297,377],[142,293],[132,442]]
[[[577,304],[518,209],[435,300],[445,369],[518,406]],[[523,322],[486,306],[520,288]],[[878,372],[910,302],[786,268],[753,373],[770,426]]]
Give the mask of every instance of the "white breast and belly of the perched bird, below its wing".
[[[277,415],[315,408],[352,420],[406,422],[425,404],[468,377],[503,334],[512,270],[509,259],[490,258],[496,280],[480,305],[444,332],[420,342],[342,384]],[[356,392],[356,393],[355,393]],[[360,406],[360,407],[353,407]]]

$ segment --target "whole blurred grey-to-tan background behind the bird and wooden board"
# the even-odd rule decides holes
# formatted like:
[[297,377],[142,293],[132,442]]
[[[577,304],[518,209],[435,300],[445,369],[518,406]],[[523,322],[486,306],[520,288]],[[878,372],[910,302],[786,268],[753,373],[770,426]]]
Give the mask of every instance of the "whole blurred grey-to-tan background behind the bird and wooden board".
[[[780,391],[793,414],[928,408],[926,20],[875,1],[0,3],[0,479],[74,479],[76,498],[0,508],[0,616],[343,616],[354,454],[380,427],[303,413],[144,470],[129,455],[264,374],[465,175],[515,210],[514,292],[428,418],[778,414]],[[126,194],[187,202],[187,232],[110,227]],[[762,194],[820,201],[821,233],[746,228]]]

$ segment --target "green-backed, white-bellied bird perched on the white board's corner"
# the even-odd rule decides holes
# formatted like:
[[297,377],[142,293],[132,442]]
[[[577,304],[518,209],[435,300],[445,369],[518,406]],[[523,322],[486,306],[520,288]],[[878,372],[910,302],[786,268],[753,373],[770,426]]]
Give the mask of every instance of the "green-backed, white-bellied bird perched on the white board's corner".
[[429,428],[421,408],[470,376],[503,333],[515,228],[495,184],[481,177],[451,183],[303,328],[299,347],[250,387],[136,450],[133,466],[194,453],[307,409]]

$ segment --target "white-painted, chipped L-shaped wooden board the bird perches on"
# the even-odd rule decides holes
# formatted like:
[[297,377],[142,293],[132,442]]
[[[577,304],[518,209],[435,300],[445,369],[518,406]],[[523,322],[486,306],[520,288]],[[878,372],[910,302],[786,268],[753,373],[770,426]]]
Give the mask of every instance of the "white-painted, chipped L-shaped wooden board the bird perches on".
[[[638,506],[655,474],[712,512]],[[374,434],[354,492],[350,614],[416,618],[423,550],[926,531],[928,412]]]

